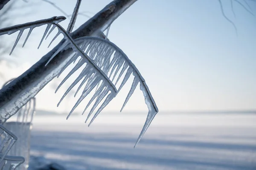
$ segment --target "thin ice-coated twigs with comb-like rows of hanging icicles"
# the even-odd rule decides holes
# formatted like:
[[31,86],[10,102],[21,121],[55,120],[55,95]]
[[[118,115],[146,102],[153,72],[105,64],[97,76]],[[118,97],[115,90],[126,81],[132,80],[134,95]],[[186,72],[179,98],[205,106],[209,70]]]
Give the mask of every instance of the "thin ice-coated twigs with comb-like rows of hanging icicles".
[[[53,38],[55,40],[58,35],[62,34],[64,35],[64,43],[61,45],[61,47],[52,55],[52,57],[49,59],[47,64],[54,58],[59,52],[67,49],[72,48],[74,51],[74,55],[70,57],[69,62],[62,68],[60,74],[71,64],[76,63],[76,65],[73,67],[73,69],[67,74],[67,76],[64,78],[64,80],[61,82],[59,87],[67,81],[68,78],[70,78],[71,75],[73,75],[74,72],[76,72],[78,69],[82,68],[82,71],[80,75],[76,78],[76,80],[69,86],[67,91],[64,93],[63,97],[61,98],[60,102],[63,100],[63,98],[67,95],[68,92],[81,80],[81,84],[79,85],[78,89],[76,90],[76,94],[79,92],[81,87],[85,85],[81,96],[79,97],[78,101],[76,102],[73,109],[70,111],[70,114],[67,116],[67,118],[71,115],[71,113],[76,109],[76,107],[80,104],[80,102],[96,87],[96,92],[94,92],[93,97],[88,102],[87,106],[84,109],[85,110],[90,106],[90,104],[93,103],[92,108],[90,109],[90,112],[87,116],[87,119],[85,122],[87,122],[90,115],[94,112],[96,107],[102,102],[102,104],[99,106],[97,111],[95,112],[93,118],[91,119],[89,125],[93,122],[93,120],[96,118],[97,115],[104,109],[104,107],[118,94],[118,92],[122,89],[128,78],[131,76],[131,74],[134,75],[134,80],[131,86],[130,91],[128,92],[128,95],[125,99],[125,102],[122,106],[122,109],[125,107],[125,104],[128,102],[129,98],[133,94],[135,88],[140,83],[140,89],[143,91],[143,95],[145,97],[145,103],[148,106],[148,116],[146,119],[146,122],[144,124],[143,130],[140,133],[140,136],[135,144],[140,141],[140,138],[142,138],[143,134],[147,130],[148,126],[150,125],[151,121],[153,120],[154,116],[157,114],[158,109],[154,102],[154,99],[148,89],[148,86],[145,83],[144,78],[138,71],[138,69],[134,66],[134,64],[128,59],[128,57],[125,55],[124,52],[122,52],[121,49],[119,49],[115,44],[111,43],[108,40],[99,38],[99,37],[81,37],[76,40],[73,40],[70,35],[58,24],[58,22],[64,20],[65,17],[52,17],[47,20],[39,20],[32,23],[27,23],[26,26],[16,26],[15,28],[9,27],[5,30],[0,29],[0,35],[3,34],[12,34],[16,31],[20,31],[18,34],[17,40],[15,42],[15,45],[13,49],[15,48],[18,40],[20,39],[20,36],[23,33],[24,29],[30,29],[29,34],[26,37],[26,40],[28,39],[30,33],[32,32],[32,29],[47,24],[47,28],[44,32],[42,40],[57,27],[58,33]],[[52,28],[51,28],[52,26]],[[50,29],[51,28],[51,29]],[[50,31],[49,31],[50,30]],[[47,32],[49,31],[48,35]],[[47,35],[47,36],[46,36]],[[24,44],[26,43],[26,40]],[[40,45],[42,43],[42,40],[40,42]],[[52,40],[52,41],[53,41]],[[52,42],[51,42],[52,43]],[[24,46],[23,44],[23,46]],[[39,45],[39,46],[40,46]],[[38,47],[39,48],[39,47]],[[12,49],[12,51],[13,51]],[[46,64],[46,65],[47,65]],[[122,75],[124,75],[124,78],[121,78]],[[119,88],[116,88],[116,84],[121,81],[121,84]],[[57,91],[56,90],[56,91]],[[75,94],[75,96],[76,96]],[[105,100],[103,101],[103,99]],[[58,105],[60,104],[58,103]],[[121,111],[122,111],[121,109]],[[84,114],[84,112],[82,114]],[[135,147],[134,146],[134,147]]]

